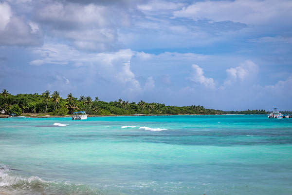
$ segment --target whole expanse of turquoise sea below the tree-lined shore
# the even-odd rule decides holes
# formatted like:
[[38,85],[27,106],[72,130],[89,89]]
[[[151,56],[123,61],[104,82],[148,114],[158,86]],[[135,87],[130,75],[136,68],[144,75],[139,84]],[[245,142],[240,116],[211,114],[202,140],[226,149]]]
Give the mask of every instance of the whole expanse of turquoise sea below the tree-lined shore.
[[1,195],[292,195],[292,118],[0,119]]

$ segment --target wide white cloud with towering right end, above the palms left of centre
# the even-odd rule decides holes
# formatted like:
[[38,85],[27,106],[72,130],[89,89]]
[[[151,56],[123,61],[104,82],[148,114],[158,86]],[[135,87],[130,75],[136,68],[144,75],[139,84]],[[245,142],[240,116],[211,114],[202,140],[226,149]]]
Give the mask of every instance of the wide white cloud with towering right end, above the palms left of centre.
[[[117,90],[122,90],[125,94],[142,92],[140,82],[131,70],[130,59],[135,54],[131,50],[86,54],[64,44],[45,44],[34,52],[41,58],[31,61],[31,65],[66,66],[66,72],[71,73],[71,77],[84,77],[80,83],[94,84],[106,81],[113,83]],[[66,79],[64,81],[67,82]],[[151,79],[148,88],[151,86],[150,81]],[[67,83],[76,84],[69,82],[69,78]]]

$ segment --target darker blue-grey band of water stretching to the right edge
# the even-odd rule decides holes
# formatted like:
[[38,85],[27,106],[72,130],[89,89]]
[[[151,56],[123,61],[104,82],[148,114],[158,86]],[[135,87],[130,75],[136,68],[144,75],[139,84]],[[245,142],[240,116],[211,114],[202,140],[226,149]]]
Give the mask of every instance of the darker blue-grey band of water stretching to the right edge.
[[292,144],[291,136],[252,136],[247,134],[189,134],[189,135],[151,135],[151,134],[110,134],[110,135],[71,135],[73,140],[97,140],[119,142],[149,142],[172,145],[267,145],[267,144]]

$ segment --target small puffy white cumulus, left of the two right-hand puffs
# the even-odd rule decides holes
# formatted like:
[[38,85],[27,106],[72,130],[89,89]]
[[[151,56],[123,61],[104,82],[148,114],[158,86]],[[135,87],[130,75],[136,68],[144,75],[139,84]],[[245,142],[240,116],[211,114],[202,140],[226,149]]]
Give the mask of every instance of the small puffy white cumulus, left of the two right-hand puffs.
[[215,88],[215,82],[213,78],[206,78],[204,76],[203,69],[198,66],[197,64],[192,65],[192,72],[191,72],[191,78],[189,78],[191,81],[195,83],[203,84],[204,86],[208,88]]

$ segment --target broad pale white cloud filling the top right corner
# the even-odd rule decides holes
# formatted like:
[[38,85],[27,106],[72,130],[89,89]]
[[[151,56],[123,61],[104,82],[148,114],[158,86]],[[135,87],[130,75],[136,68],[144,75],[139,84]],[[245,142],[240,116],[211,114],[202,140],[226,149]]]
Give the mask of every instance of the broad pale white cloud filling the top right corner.
[[291,0],[207,0],[184,7],[182,10],[174,12],[174,16],[194,20],[208,19],[246,24],[271,22],[287,24],[292,17],[291,10]]

